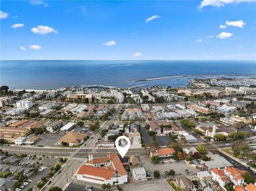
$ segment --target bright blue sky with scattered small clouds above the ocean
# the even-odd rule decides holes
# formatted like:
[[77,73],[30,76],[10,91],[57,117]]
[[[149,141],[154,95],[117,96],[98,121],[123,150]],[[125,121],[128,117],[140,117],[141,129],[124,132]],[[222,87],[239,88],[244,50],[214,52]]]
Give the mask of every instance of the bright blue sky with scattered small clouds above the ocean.
[[2,60],[256,60],[256,3],[1,1]]

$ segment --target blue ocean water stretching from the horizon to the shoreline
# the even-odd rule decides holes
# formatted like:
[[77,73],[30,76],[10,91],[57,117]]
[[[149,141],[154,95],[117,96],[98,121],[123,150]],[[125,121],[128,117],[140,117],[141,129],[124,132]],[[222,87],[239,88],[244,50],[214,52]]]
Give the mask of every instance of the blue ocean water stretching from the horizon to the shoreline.
[[142,84],[185,86],[188,78],[133,80],[179,75],[255,75],[255,61],[1,61],[1,86],[58,89],[73,85],[132,87]]

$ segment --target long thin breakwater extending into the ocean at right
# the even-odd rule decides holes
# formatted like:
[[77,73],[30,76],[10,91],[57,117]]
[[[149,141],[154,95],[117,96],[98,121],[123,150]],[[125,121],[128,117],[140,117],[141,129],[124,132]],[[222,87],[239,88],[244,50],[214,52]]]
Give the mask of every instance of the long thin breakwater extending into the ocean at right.
[[241,74],[216,74],[216,75],[181,75],[181,76],[168,76],[168,77],[161,77],[161,78],[148,78],[148,79],[141,79],[141,80],[134,80],[133,82],[137,81],[153,81],[153,80],[164,80],[170,78],[183,78],[183,77],[228,77],[228,76],[244,76],[244,77],[256,77],[256,75],[241,75]]

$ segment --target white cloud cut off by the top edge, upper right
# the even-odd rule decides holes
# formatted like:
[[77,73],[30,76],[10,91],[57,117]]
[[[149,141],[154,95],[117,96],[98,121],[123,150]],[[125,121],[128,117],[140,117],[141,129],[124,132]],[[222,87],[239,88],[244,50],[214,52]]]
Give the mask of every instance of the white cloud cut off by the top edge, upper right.
[[243,2],[253,2],[255,0],[203,0],[201,4],[198,6],[199,9],[202,9],[205,6],[217,6],[217,7],[223,7],[227,4],[231,3],[243,3]]

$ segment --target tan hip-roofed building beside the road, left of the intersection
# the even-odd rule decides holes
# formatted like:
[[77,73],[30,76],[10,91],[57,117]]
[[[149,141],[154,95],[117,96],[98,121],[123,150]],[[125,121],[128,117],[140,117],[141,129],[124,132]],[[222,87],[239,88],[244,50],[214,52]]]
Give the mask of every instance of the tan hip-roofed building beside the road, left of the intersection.
[[80,145],[84,143],[85,138],[86,135],[80,132],[68,132],[66,135],[58,140],[57,144],[61,144],[62,142],[64,142],[68,143],[69,146]]

